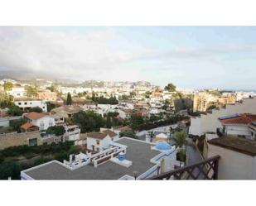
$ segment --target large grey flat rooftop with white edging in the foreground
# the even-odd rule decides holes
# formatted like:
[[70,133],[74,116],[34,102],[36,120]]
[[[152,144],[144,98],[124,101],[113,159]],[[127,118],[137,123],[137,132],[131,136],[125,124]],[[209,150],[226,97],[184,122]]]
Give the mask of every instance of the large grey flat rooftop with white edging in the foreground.
[[133,176],[133,171],[138,171],[138,176],[142,175],[155,165],[150,160],[160,154],[160,151],[151,150],[152,144],[146,141],[123,137],[115,142],[128,146],[126,159],[133,161],[133,165],[127,168],[107,161],[96,168],[93,165],[85,165],[76,170],[69,170],[57,162],[51,162],[25,171],[25,174],[34,180],[118,180],[123,175]]

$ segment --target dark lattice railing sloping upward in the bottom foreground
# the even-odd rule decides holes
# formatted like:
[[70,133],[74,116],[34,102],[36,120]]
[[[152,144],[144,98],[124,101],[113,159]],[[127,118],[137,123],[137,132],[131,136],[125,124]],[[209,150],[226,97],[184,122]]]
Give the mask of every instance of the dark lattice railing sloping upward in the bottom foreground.
[[147,180],[218,180],[220,156],[213,156],[194,165],[153,176]]

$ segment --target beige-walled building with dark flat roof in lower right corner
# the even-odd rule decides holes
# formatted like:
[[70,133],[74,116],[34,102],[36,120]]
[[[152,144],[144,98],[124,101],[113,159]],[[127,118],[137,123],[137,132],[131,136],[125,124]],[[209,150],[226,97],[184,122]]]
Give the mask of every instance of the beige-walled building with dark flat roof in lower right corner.
[[219,137],[208,141],[207,156],[220,156],[218,179],[256,179],[256,141],[242,137]]

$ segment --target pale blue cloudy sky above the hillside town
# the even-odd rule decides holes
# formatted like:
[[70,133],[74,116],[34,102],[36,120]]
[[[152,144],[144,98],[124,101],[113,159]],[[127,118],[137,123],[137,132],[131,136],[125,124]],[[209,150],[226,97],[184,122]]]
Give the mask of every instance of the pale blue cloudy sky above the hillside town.
[[0,26],[0,74],[256,90],[255,26]]

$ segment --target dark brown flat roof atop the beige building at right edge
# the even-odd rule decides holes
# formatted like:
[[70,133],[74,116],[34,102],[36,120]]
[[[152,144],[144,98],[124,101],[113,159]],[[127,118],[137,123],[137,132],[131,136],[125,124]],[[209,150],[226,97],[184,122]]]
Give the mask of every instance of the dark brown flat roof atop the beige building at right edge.
[[219,137],[208,141],[211,145],[238,151],[249,156],[256,156],[256,141],[242,137]]

